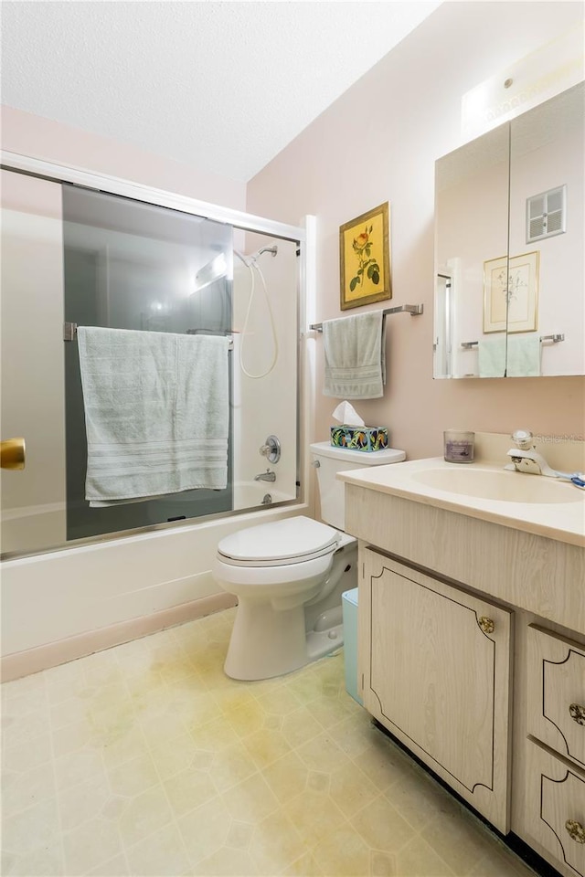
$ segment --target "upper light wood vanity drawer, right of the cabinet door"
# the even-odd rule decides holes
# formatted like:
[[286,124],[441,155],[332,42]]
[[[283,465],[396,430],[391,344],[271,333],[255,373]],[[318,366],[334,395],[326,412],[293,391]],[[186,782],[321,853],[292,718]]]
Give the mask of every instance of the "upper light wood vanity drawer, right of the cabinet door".
[[585,647],[528,626],[528,734],[585,766]]

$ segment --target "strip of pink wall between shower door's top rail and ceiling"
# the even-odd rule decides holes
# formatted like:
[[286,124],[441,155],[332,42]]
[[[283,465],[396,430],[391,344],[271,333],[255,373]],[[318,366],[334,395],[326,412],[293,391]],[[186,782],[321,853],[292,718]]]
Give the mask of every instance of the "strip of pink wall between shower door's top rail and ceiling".
[[[154,120],[153,124],[156,123]],[[13,107],[2,107],[2,148],[47,162],[118,176],[234,210],[246,209],[245,183]]]

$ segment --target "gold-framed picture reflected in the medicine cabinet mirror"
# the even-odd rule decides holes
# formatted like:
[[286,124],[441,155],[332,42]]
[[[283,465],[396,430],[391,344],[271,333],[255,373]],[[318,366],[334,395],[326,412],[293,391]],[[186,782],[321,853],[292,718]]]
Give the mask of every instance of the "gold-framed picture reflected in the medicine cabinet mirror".
[[484,262],[484,333],[536,332],[540,253]]

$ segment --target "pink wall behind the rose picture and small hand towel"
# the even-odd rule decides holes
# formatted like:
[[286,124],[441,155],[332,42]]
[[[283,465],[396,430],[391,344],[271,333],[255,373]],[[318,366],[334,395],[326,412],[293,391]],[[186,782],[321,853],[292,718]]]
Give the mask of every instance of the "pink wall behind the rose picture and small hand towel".
[[[393,301],[381,305],[422,302],[425,312],[388,318],[386,395],[355,406],[410,458],[441,454],[444,428],[585,433],[582,377],[432,379],[435,160],[462,143],[466,91],[580,17],[580,3],[445,3],[250,181],[250,212],[317,217],[317,320],[341,315],[339,226],[390,202]],[[314,438],[325,439],[336,400],[321,392],[322,341],[310,343]]]

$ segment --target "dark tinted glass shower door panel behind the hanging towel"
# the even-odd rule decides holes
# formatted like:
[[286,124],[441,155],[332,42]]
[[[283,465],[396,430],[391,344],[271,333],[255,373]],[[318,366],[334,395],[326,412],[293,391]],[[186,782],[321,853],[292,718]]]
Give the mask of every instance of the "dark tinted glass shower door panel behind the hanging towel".
[[[63,244],[66,325],[230,333],[230,226],[63,185]],[[74,330],[70,335],[71,343],[65,343],[68,540],[229,511],[231,441],[224,490],[90,507],[84,490],[87,438],[80,357]]]

